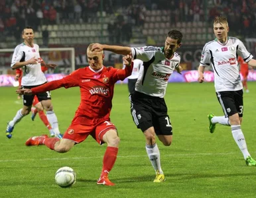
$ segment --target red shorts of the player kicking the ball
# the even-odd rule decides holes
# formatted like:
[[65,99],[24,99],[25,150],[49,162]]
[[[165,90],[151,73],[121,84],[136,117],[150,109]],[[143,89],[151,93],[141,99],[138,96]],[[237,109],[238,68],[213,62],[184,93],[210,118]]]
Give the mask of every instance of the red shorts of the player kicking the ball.
[[63,139],[69,139],[75,143],[81,143],[88,137],[88,135],[92,135],[97,143],[102,145],[104,143],[102,139],[103,135],[105,135],[109,129],[117,130],[115,125],[110,121],[103,121],[96,125],[81,125],[79,123],[71,124],[64,133]]

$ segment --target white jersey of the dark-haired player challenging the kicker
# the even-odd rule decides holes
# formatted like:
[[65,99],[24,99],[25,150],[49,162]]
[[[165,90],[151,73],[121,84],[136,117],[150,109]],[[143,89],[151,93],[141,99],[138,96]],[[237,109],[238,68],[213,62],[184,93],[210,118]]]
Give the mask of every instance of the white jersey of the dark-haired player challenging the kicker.
[[143,61],[135,90],[149,96],[164,98],[168,79],[180,64],[180,55],[174,53],[172,59],[167,59],[164,56],[164,48],[153,46],[131,48],[131,51],[133,59]]

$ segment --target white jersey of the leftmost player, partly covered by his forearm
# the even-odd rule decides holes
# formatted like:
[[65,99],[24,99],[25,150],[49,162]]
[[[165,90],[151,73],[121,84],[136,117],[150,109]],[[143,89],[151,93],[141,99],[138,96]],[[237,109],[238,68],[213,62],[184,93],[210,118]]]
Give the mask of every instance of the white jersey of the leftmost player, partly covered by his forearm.
[[38,60],[38,63],[34,65],[29,64],[22,67],[23,77],[21,80],[21,85],[23,86],[36,86],[39,84],[44,84],[47,81],[44,73],[41,70],[40,61],[42,61],[42,59],[40,58],[39,46],[37,44],[34,44],[33,48],[26,46],[25,43],[19,44],[13,53],[11,67],[13,67],[15,63],[28,61],[32,57],[35,57]]

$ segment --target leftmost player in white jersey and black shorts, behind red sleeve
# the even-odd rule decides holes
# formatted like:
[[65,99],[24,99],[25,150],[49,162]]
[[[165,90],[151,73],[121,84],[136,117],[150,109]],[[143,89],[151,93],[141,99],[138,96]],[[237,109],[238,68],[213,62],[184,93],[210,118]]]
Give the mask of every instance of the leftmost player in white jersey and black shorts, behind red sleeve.
[[[46,77],[41,70],[41,65],[46,67],[56,67],[54,64],[45,64],[39,54],[39,47],[34,44],[34,31],[31,27],[26,27],[22,36],[24,42],[19,44],[13,53],[11,61],[12,69],[23,69],[23,78],[21,86],[23,88],[33,88],[46,83]],[[58,119],[53,111],[52,102],[50,98],[50,92],[44,92],[36,94],[38,100],[41,102],[44,110],[46,110],[46,116],[56,136],[60,135],[58,129]],[[10,139],[16,123],[21,121],[24,116],[27,116],[31,112],[31,106],[34,99],[32,96],[23,96],[23,108],[19,110],[13,120],[7,123],[6,136]]]

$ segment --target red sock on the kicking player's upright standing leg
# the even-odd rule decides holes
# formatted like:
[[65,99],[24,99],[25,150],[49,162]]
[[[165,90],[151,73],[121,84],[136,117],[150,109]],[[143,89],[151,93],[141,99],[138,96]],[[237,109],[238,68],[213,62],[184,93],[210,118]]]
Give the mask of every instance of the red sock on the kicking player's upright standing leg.
[[101,171],[101,176],[107,176],[115,164],[117,159],[117,147],[107,147],[104,157],[103,157],[103,167]]

